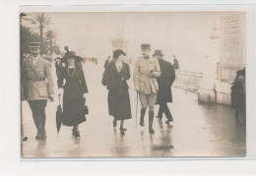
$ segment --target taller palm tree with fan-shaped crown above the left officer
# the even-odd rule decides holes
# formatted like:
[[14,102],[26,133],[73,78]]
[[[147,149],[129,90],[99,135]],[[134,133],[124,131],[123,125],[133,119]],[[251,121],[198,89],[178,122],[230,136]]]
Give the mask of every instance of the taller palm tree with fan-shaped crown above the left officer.
[[39,13],[35,15],[30,22],[32,25],[38,25],[39,30],[40,30],[40,39],[41,42],[43,41],[43,29],[52,24],[52,20],[44,13]]

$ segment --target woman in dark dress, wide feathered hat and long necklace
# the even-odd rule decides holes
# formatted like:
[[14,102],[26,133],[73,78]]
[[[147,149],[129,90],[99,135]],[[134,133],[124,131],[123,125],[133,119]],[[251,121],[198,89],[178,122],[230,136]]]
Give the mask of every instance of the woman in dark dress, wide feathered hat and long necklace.
[[[75,52],[66,53],[67,65],[61,69],[58,87],[63,93],[63,125],[73,126],[73,136],[80,137],[79,124],[86,121],[84,105],[88,92],[83,68]],[[63,86],[65,80],[65,85]],[[62,92],[62,91],[59,91]]]

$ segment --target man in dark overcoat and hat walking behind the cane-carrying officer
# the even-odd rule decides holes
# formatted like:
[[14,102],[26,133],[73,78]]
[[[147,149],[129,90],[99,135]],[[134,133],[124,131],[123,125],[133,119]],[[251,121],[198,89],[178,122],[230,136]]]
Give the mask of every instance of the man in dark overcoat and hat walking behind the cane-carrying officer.
[[157,95],[157,104],[160,104],[158,118],[162,118],[162,113],[165,114],[166,124],[173,121],[167,102],[172,102],[171,85],[175,80],[175,72],[171,63],[162,59],[162,51],[156,50],[155,57],[158,58],[160,64],[160,77],[157,79],[159,83],[159,92]]

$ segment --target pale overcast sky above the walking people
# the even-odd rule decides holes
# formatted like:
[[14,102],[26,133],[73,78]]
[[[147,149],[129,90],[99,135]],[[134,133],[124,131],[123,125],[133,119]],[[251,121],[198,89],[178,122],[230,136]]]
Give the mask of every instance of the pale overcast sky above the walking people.
[[[35,14],[32,14],[35,15]],[[103,62],[112,53],[109,41],[118,31],[129,40],[127,58],[141,56],[141,43],[151,43],[152,53],[162,49],[164,58],[176,55],[182,70],[203,71],[207,47],[214,26],[214,13],[47,13],[48,27],[58,43],[81,56],[95,56]],[[219,13],[216,13],[217,17]],[[217,20],[219,25],[219,17]],[[33,29],[36,30],[36,29]],[[45,29],[47,30],[47,29]],[[45,31],[44,30],[44,31]]]

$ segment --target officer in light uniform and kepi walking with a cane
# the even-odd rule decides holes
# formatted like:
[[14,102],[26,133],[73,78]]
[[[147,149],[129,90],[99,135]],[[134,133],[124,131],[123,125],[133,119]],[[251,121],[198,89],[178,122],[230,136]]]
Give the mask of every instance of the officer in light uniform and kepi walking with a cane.
[[139,57],[135,63],[134,87],[135,91],[139,92],[142,104],[140,125],[144,126],[144,116],[149,106],[149,132],[154,134],[154,104],[159,91],[157,78],[160,77],[160,65],[156,58],[150,56],[150,44],[142,44],[141,47],[143,56]]

